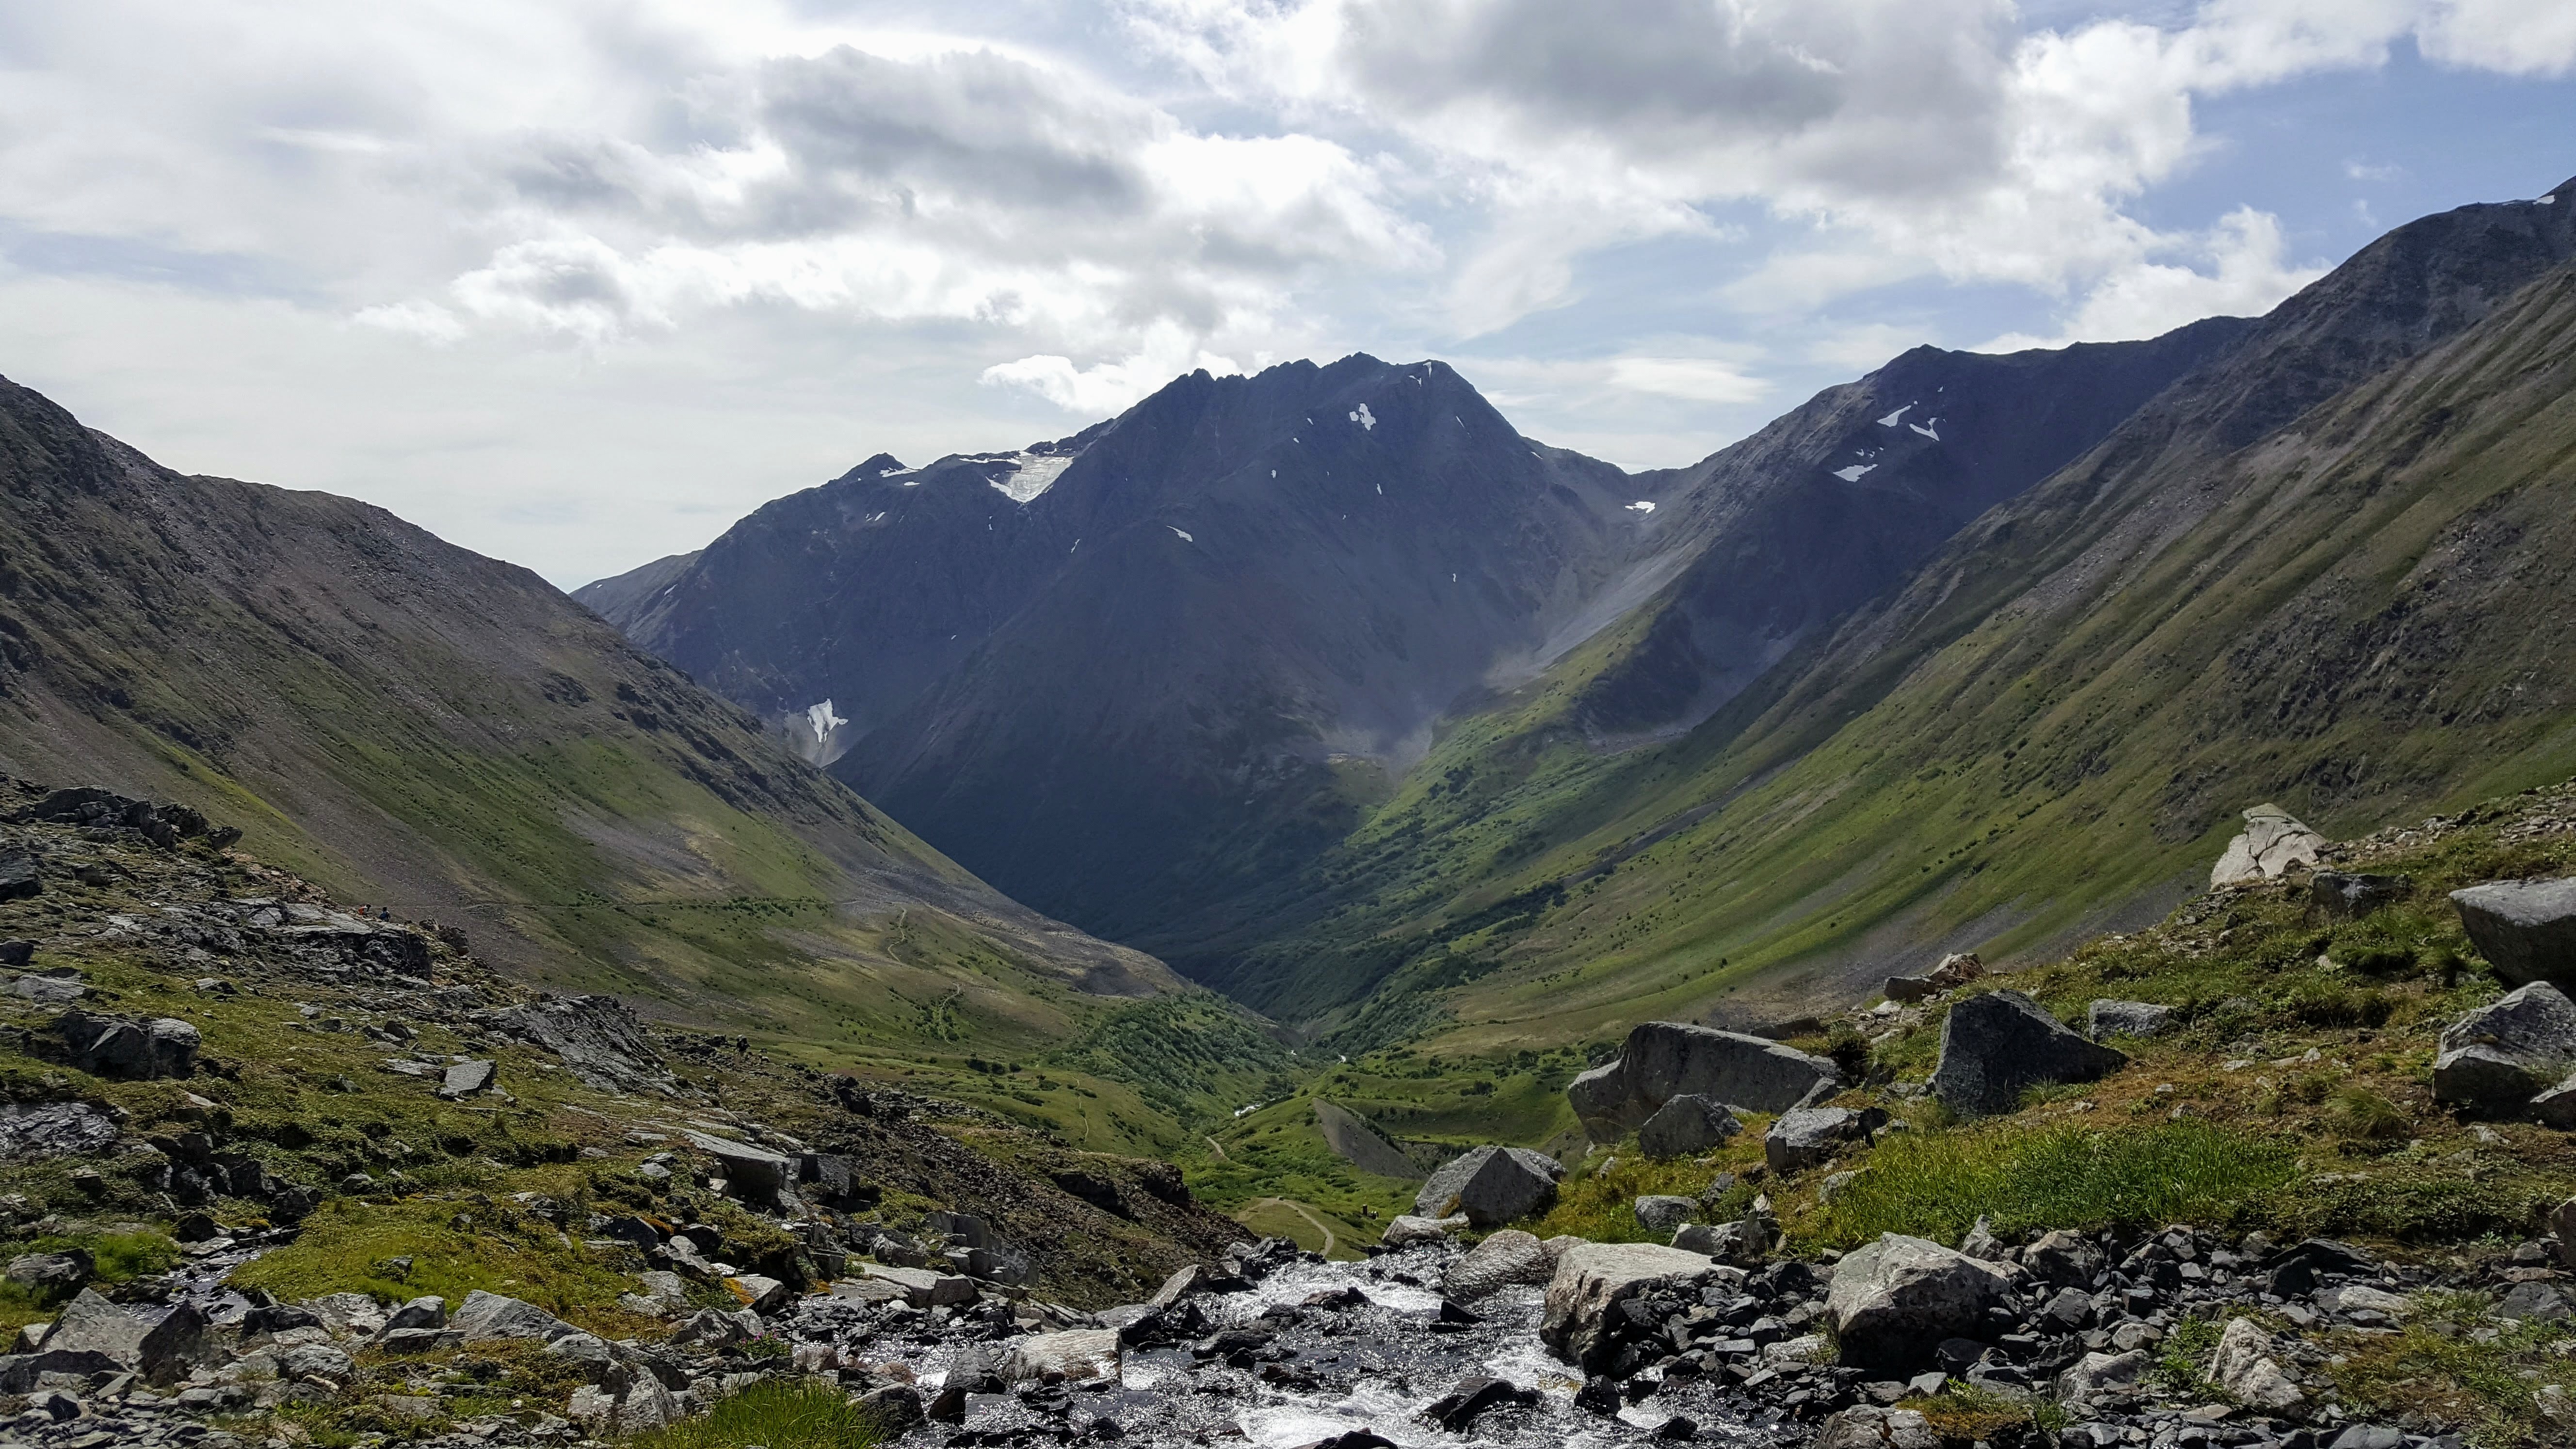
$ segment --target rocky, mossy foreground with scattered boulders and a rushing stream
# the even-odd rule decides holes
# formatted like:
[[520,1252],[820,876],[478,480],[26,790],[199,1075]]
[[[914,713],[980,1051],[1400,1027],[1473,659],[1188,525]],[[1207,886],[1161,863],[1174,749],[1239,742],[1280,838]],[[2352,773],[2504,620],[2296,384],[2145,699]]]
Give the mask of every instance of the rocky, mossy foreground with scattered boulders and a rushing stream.
[[[2138,1078],[2192,1060],[2169,1044],[2190,1031],[2280,1047],[2251,998],[2094,998],[2076,1029],[1960,959],[1891,980],[1883,1006],[1839,1024],[1878,1031],[1857,1052],[1646,1024],[1569,1093],[1615,1147],[1574,1173],[1471,1150],[1370,1261],[1327,1263],[1244,1243],[1164,1165],[1048,1152],[927,1098],[647,1029],[605,998],[520,993],[461,936],[319,900],[227,856],[204,820],[18,794],[0,835],[8,1444],[580,1446],[778,1390],[925,1446],[2465,1449],[2576,1434],[2568,1209],[2455,1214],[2486,1225],[2473,1250],[2287,1232],[2298,1207],[2251,1181],[2210,1199],[2226,1225],[1850,1227],[1855,1204],[1896,1212],[1886,1183],[1909,1168],[1888,1142],[2099,1111],[2045,1096],[2058,1088],[2226,1127],[2236,1106],[2215,1085]],[[2257,908],[2378,879],[2313,866],[2231,887],[2254,895],[2172,931],[2190,946],[2223,908],[2233,923],[2205,936],[2218,951]],[[2388,1106],[2398,1129],[2543,1160],[2576,1067],[2548,931],[2524,931],[2537,954],[2481,944],[2530,972],[2512,993],[2419,982],[2352,1042],[2228,1060],[2210,1080],[2287,1080],[2331,1067],[2326,1047],[2367,1044],[2383,1075],[2354,1080],[2396,1083],[2419,1070],[2398,1026],[2421,1003],[2427,1101],[2421,1119]],[[1937,1057],[1906,1057],[1906,1031],[1932,1029]],[[1924,1075],[1901,1075],[1909,1062]],[[2401,1152],[2370,1132],[2352,1158],[2372,1171],[2434,1163],[2421,1137]],[[2244,1142],[2293,1196],[2367,1176]],[[2476,1183],[2476,1150],[2439,1160]],[[1628,1181],[1623,1160],[1664,1189],[1600,1232],[1631,1240],[1528,1230]],[[2530,1196],[2524,1178],[2486,1183],[2468,1196]],[[2499,1235],[2512,1222],[2532,1232]],[[2476,1421],[2383,1413],[2388,1395],[2357,1392],[2347,1366],[2396,1343],[2434,1377],[2496,1379],[2509,1403]],[[750,1434],[724,1441],[765,1444]]]

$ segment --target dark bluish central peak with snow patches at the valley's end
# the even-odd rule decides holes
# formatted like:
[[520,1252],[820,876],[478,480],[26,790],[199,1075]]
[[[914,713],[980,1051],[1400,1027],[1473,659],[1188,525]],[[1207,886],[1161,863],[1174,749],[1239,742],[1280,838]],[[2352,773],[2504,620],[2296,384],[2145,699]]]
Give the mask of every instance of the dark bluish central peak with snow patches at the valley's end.
[[1015,456],[871,459],[611,616],[984,879],[1149,941],[1340,838],[1636,554],[1633,503],[1455,371],[1352,356],[1182,376]]

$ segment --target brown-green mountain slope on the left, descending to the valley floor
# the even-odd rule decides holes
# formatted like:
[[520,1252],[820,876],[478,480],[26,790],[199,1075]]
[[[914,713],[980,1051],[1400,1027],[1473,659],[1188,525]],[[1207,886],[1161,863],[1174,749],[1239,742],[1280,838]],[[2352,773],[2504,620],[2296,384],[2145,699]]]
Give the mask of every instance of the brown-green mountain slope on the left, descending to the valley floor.
[[180,477],[13,384],[0,773],[185,802],[520,980],[956,1080],[1097,1145],[1170,1142],[1172,1111],[1273,1070],[1010,1080],[1188,987],[989,890],[536,575],[345,498]]

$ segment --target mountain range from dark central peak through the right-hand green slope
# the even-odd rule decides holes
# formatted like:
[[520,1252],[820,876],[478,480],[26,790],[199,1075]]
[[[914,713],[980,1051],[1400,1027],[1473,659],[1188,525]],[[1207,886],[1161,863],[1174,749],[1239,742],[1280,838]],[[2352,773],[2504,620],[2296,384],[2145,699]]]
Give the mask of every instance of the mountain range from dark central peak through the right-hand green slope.
[[2427,217],[2262,320],[1917,348],[1687,469],[1437,361],[1193,374],[577,598],[1309,1031],[1759,1021],[2164,910],[2257,799],[2342,828],[2563,768],[2566,660],[2514,621],[2563,598],[2571,217]]

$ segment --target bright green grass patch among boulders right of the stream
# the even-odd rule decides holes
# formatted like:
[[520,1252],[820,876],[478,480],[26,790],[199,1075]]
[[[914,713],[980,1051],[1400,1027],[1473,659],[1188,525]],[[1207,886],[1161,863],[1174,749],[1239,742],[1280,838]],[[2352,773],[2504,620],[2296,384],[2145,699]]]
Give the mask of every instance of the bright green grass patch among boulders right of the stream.
[[2295,1145],[2202,1122],[1904,1132],[1880,1140],[1801,1235],[1834,1248],[1880,1232],[1958,1243],[1981,1214],[2002,1232],[2223,1222],[2295,1178]]

